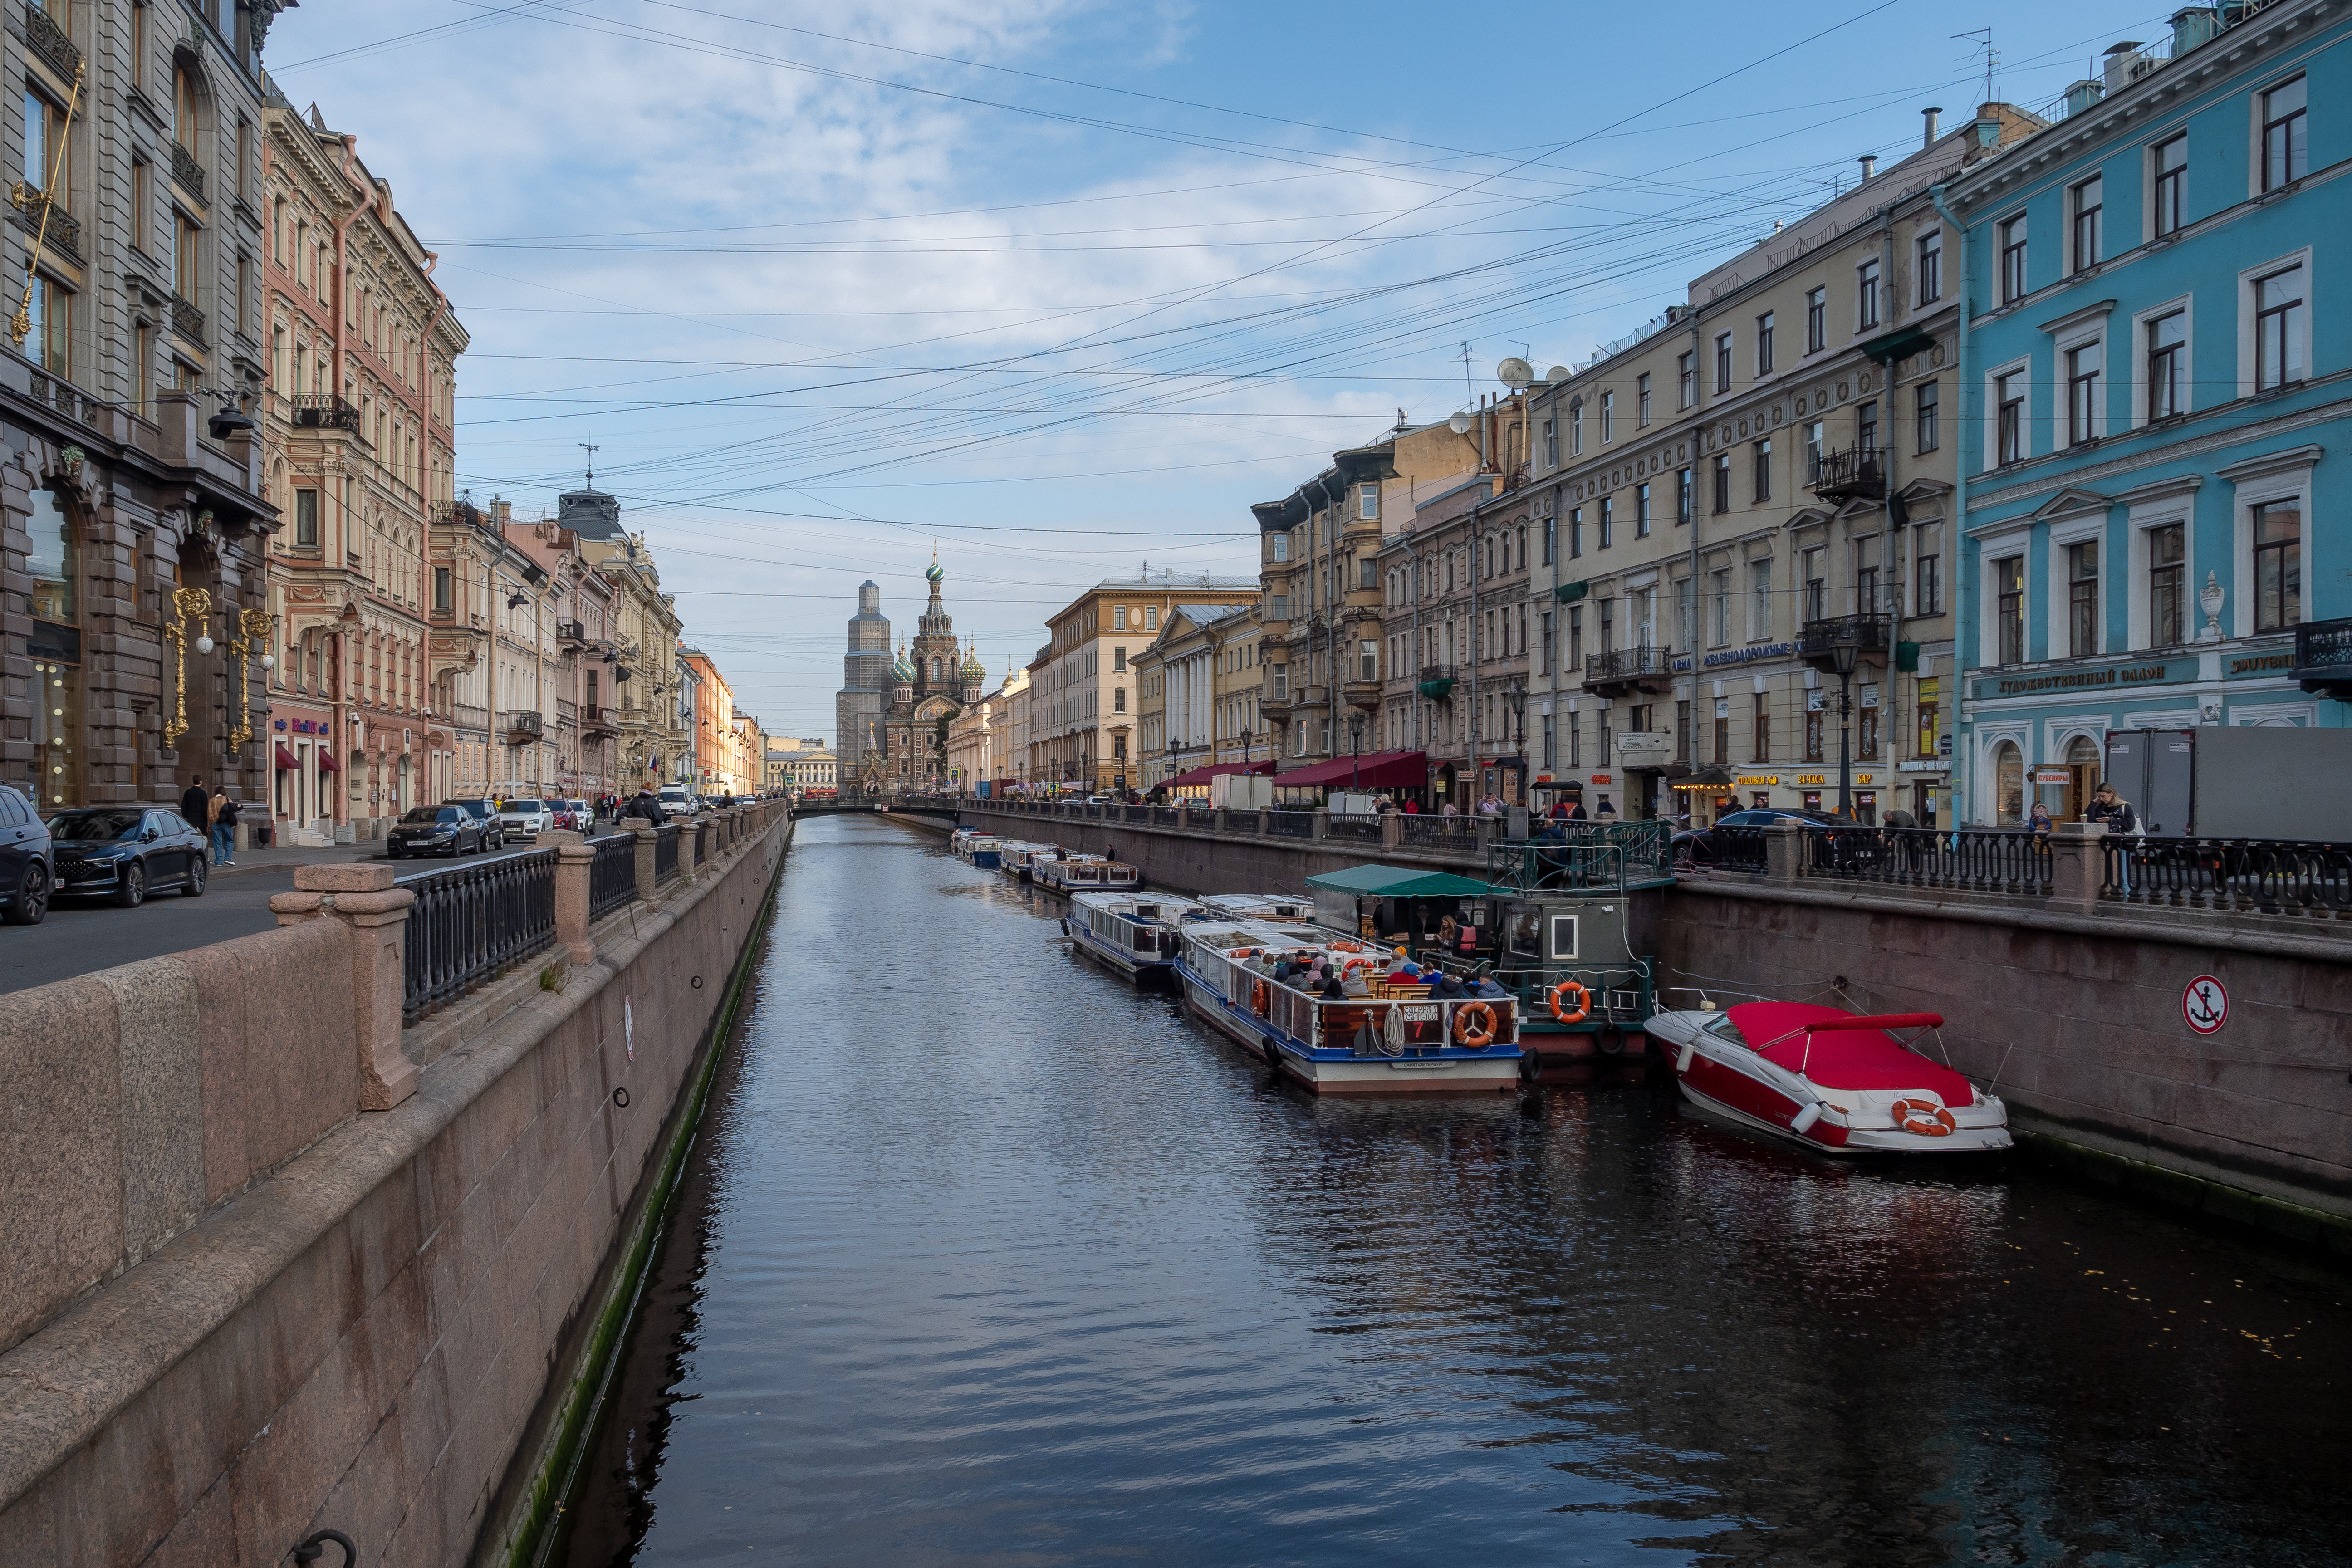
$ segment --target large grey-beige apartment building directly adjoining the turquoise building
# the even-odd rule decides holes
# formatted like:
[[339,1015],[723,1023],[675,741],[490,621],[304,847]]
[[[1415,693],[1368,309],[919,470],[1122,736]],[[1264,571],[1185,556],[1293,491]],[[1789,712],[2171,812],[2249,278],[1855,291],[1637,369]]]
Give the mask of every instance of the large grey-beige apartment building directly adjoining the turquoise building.
[[[2004,110],[2006,113],[2006,110]],[[1957,244],[1936,134],[1534,397],[1536,778],[1947,820]],[[1839,712],[1837,649],[1851,658]]]

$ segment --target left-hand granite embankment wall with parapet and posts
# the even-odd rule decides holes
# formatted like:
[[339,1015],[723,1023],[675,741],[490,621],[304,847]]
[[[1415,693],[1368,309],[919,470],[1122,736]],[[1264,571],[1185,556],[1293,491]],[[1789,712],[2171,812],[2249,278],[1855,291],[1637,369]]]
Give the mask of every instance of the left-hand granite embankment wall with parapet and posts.
[[788,842],[708,823],[691,877],[407,1030],[409,896],[365,865],[9,997],[0,1566],[503,1559]]

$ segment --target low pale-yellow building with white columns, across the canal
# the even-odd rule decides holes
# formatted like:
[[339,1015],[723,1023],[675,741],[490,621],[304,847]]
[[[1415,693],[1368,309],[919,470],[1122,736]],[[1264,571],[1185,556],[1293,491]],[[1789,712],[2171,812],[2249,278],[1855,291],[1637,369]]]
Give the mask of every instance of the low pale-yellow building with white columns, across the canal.
[[1176,604],[1134,656],[1138,790],[1204,766],[1265,762],[1256,604]]

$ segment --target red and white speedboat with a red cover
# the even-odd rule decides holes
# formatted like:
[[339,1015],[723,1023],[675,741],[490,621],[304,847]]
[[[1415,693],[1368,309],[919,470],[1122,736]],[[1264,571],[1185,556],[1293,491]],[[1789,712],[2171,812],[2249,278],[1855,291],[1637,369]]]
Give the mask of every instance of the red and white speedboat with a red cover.
[[1896,1041],[1938,1013],[1863,1018],[1811,1001],[1658,1013],[1691,1105],[1823,1154],[1973,1154],[2009,1147],[2009,1112],[1952,1067]]

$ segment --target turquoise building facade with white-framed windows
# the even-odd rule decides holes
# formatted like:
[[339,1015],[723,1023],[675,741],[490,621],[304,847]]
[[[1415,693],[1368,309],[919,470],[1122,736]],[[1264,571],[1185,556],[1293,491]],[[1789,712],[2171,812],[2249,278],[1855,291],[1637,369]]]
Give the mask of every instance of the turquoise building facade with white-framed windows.
[[2183,9],[1938,193],[1959,823],[2079,816],[2112,731],[2352,717],[2347,33],[2333,0]]

